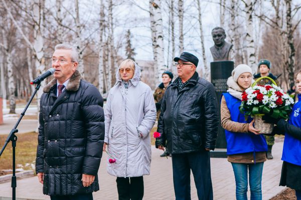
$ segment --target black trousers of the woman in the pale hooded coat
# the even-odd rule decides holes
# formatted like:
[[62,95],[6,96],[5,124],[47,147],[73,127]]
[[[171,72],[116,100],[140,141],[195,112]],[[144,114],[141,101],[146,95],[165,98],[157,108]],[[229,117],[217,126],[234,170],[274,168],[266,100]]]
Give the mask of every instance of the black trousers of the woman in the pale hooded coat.
[[143,198],[143,176],[117,177],[116,182],[119,200],[141,200]]

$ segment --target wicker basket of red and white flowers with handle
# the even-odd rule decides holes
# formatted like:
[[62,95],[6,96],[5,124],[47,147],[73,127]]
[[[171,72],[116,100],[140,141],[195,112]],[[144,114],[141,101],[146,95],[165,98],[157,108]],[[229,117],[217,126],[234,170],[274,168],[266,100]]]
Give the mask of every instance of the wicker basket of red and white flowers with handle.
[[[269,79],[272,84],[256,85],[261,79]],[[260,133],[271,133],[274,124],[265,123],[262,116],[287,119],[293,104],[293,95],[285,93],[273,79],[265,76],[257,79],[242,93],[239,111],[254,118],[254,127],[260,129]]]

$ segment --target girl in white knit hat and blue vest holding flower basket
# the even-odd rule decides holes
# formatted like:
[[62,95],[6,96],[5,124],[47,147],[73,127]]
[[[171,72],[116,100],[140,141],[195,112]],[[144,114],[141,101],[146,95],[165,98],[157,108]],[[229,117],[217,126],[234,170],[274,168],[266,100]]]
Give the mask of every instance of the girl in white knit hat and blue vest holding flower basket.
[[267,150],[264,136],[253,127],[254,120],[249,117],[245,121],[244,114],[239,112],[241,94],[252,82],[252,69],[238,65],[228,78],[229,88],[221,99],[221,123],[225,129],[228,161],[235,176],[236,199],[243,200],[247,199],[248,174],[251,199],[262,199],[261,178]]

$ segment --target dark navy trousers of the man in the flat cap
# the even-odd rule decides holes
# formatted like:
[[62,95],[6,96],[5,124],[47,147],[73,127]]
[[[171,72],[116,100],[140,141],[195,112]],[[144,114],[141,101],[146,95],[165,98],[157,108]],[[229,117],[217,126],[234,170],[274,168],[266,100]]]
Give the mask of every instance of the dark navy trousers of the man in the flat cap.
[[190,200],[190,170],[200,200],[212,200],[213,189],[209,151],[173,153],[173,176],[176,200]]

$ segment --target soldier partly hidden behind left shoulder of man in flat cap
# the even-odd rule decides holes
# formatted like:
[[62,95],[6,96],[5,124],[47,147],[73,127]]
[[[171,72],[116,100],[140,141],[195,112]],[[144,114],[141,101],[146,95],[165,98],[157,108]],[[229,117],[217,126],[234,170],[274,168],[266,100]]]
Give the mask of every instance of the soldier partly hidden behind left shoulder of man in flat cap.
[[[160,83],[160,85],[158,86],[158,88],[156,88],[156,90],[154,92],[154,99],[155,99],[156,108],[157,108],[157,120],[159,120],[159,116],[160,116],[161,100],[163,98],[163,95],[165,93],[167,86],[169,86],[169,84],[172,83],[173,78],[174,78],[173,73],[171,73],[170,71],[165,71],[162,74],[162,83]],[[164,151],[164,153],[160,156],[164,157],[167,155],[169,155],[169,153],[166,149]]]

